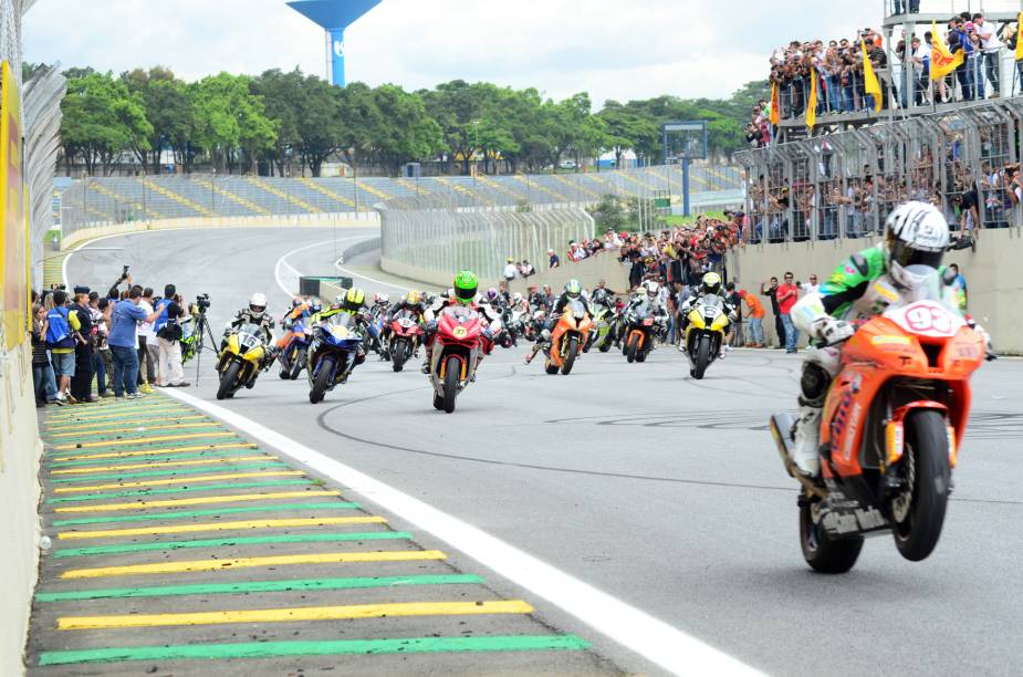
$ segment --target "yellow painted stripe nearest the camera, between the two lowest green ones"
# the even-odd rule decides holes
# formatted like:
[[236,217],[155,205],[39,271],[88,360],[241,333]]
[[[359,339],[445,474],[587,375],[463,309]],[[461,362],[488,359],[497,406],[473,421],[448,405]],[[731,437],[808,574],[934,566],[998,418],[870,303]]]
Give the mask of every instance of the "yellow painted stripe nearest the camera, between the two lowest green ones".
[[243,611],[198,612],[191,614],[135,614],[131,616],[64,616],[56,629],[106,629],[123,627],[167,627],[173,625],[222,625],[228,623],[290,623],[295,621],[345,621],[393,618],[397,616],[478,616],[489,614],[531,614],[522,600],[492,602],[404,602],[394,604],[346,604],[343,606],[293,606]]

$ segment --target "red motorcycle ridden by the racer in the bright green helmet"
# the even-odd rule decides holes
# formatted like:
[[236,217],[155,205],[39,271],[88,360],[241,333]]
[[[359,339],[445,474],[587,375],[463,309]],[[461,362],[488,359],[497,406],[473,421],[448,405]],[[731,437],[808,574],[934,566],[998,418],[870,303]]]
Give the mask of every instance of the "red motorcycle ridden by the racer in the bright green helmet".
[[450,414],[455,398],[469,385],[469,377],[483,350],[483,323],[474,311],[453,305],[437,322],[430,361],[434,408]]

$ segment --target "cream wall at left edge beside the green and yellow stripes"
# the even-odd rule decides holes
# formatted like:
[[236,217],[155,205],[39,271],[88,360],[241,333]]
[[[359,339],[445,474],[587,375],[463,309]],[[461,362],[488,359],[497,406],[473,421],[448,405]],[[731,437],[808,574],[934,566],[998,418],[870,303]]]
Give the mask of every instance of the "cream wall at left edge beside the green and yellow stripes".
[[39,571],[36,479],[42,441],[32,393],[31,345],[0,360],[0,675],[22,675],[32,591]]

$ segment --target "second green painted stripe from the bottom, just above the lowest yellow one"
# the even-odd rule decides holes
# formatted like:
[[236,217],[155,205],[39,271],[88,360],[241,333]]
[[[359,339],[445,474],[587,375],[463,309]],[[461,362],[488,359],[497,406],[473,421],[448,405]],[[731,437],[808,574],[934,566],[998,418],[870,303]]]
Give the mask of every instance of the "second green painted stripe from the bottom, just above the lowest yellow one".
[[152,587],[111,587],[35,593],[36,602],[109,600],[125,597],[170,597],[181,595],[225,595],[239,593],[292,592],[300,590],[356,590],[399,587],[405,585],[482,585],[473,574],[421,574],[415,576],[351,576],[343,579],[301,579],[297,581],[242,581],[240,583],[198,583],[194,585],[156,585]]

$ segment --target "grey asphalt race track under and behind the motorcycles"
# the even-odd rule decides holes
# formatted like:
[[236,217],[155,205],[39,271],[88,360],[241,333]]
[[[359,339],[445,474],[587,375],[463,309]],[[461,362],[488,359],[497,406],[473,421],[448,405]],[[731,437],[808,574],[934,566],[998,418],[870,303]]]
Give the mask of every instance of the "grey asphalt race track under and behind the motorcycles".
[[[301,250],[288,258],[294,270],[331,272],[333,237],[330,229],[123,236],[86,246],[67,271],[72,283],[103,289],[131,264],[142,284],[175,282],[189,299],[208,292],[219,337],[253,291],[265,292],[280,316],[282,254]],[[375,356],[321,405],[309,404],[304,376],[282,382],[275,371],[221,404],[766,673],[1023,674],[1023,362],[987,365],[974,381],[935,554],[909,563],[877,538],[852,573],[828,577],[800,554],[795,483],[766,431],[769,414],[794,407],[797,357],[734,351],[695,382],[668,348],[633,365],[592,353],[568,377],[545,375],[539,360],[525,367],[522,356],[498,350],[453,415],[434,410],[418,362],[395,374]],[[207,354],[188,392],[212,400],[215,388]],[[480,569],[452,552],[455,564],[459,558]],[[494,580],[499,591],[529,596]],[[536,602],[544,621],[587,637],[624,670],[658,673]]]

